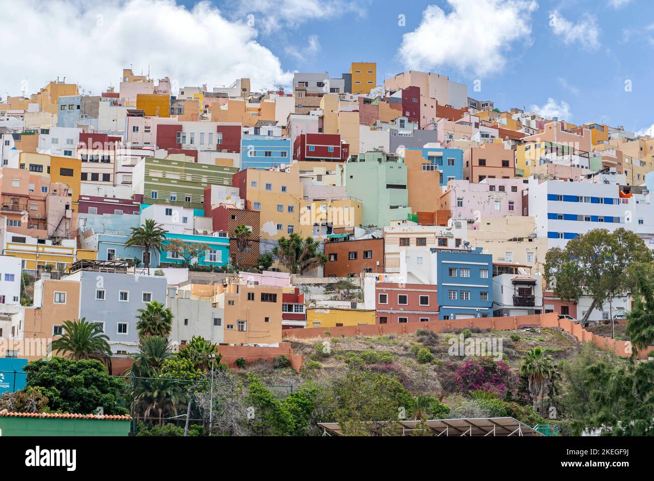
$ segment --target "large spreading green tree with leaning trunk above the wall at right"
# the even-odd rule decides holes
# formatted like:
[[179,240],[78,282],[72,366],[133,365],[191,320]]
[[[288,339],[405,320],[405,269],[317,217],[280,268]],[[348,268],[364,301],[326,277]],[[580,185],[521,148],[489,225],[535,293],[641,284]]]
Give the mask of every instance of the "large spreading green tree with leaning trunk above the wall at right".
[[595,306],[634,289],[631,264],[651,262],[651,259],[650,249],[634,232],[625,228],[613,232],[594,229],[568,241],[564,249],[555,247],[547,251],[545,277],[557,297],[593,298],[581,319],[585,322]]

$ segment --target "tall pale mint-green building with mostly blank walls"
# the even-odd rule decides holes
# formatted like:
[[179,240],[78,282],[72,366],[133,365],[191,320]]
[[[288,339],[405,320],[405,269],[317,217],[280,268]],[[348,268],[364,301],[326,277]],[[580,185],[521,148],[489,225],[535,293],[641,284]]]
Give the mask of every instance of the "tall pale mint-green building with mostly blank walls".
[[407,168],[402,157],[366,152],[345,163],[347,195],[361,200],[363,226],[383,227],[404,221],[411,213]]

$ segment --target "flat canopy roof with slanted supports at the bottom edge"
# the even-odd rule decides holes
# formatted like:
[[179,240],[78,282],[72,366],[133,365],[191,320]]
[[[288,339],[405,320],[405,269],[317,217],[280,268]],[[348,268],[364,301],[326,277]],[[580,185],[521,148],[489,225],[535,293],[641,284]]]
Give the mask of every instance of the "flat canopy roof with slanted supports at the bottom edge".
[[[339,423],[318,423],[322,427],[323,436],[341,436]],[[460,419],[429,419],[424,421],[401,420],[390,423],[383,421],[370,423],[371,435],[377,436],[411,436],[416,429],[424,429],[427,425],[436,436],[543,436],[534,428],[521,423],[515,418],[460,418]]]

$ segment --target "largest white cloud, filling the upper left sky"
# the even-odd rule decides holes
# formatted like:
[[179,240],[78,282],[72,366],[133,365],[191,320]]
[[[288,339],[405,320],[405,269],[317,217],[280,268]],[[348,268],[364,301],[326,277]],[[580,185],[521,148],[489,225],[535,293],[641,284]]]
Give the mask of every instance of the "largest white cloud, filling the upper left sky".
[[256,42],[245,22],[230,22],[208,2],[192,10],[175,0],[0,0],[3,35],[0,90],[16,95],[26,79],[35,92],[56,77],[98,94],[120,80],[123,68],[150,69],[179,86],[231,84],[249,77],[252,88],[290,82],[279,58]]

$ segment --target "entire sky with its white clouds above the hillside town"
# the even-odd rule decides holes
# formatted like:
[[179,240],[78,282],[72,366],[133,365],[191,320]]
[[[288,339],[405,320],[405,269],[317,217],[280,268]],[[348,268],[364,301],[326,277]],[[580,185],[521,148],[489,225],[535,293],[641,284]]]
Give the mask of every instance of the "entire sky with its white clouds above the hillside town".
[[0,0],[0,11],[24,27],[3,37],[21,53],[0,69],[2,97],[57,77],[97,94],[130,65],[178,86],[250,77],[259,89],[374,61],[379,84],[434,71],[502,110],[654,124],[651,0]]

